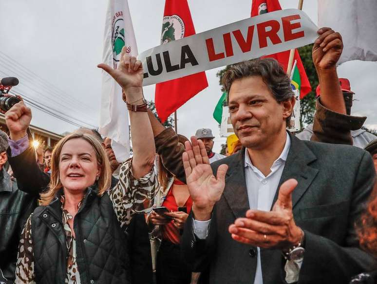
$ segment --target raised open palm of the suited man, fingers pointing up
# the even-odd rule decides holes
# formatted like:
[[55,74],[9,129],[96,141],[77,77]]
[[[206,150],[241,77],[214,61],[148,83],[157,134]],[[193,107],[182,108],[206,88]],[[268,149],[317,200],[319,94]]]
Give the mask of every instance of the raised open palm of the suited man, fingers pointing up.
[[186,152],[183,153],[182,159],[188,191],[193,201],[192,211],[196,220],[208,220],[213,206],[223,194],[228,166],[220,165],[215,177],[204,143],[192,136],[191,143],[186,141],[185,147]]

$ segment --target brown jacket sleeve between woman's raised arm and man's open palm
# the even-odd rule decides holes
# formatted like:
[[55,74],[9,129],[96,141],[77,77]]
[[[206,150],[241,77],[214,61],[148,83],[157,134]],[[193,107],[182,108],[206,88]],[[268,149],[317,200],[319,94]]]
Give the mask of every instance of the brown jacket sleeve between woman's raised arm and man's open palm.
[[182,153],[185,145],[180,143],[178,135],[172,128],[166,128],[154,137],[156,152],[160,155],[162,163],[167,170],[180,181],[186,183],[185,170],[183,168]]

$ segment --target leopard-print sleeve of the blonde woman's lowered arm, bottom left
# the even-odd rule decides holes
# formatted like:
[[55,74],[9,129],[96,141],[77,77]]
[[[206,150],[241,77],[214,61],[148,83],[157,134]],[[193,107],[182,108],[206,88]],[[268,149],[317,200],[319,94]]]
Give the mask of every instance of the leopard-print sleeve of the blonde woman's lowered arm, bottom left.
[[26,221],[19,240],[15,284],[35,284],[34,250],[31,231],[31,215]]

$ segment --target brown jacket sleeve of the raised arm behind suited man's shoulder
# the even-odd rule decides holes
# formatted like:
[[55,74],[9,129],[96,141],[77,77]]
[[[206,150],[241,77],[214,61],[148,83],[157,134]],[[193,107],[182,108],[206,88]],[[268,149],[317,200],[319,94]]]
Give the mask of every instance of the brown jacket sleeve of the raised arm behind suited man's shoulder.
[[351,130],[360,129],[366,117],[352,116],[331,111],[316,103],[311,141],[352,145]]

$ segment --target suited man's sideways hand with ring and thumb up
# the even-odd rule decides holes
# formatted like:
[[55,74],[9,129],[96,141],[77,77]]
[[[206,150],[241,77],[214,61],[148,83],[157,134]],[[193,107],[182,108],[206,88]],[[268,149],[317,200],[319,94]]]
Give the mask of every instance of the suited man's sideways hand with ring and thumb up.
[[232,238],[260,248],[287,250],[296,246],[303,235],[292,213],[292,192],[296,186],[296,179],[288,179],[282,184],[272,211],[248,210],[245,218],[236,219],[229,226]]

